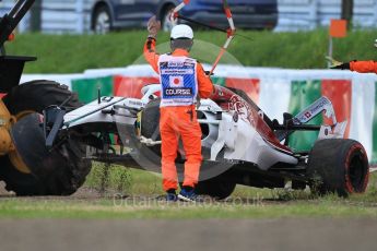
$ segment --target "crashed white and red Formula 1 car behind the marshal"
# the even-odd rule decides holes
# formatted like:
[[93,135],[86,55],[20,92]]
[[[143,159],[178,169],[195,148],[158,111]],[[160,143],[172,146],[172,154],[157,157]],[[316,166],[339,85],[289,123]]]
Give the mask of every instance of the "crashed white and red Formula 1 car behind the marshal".
[[[198,193],[224,199],[237,183],[284,188],[287,181],[292,181],[293,189],[309,186],[321,194],[365,191],[369,174],[366,152],[361,143],[343,139],[346,122],[337,121],[327,97],[296,116],[284,113],[280,124],[243,91],[222,86],[215,89],[215,95],[202,99],[197,108],[204,159]],[[28,115],[14,125],[13,136],[26,136],[24,132],[30,130],[23,128],[33,125],[34,134],[27,136],[35,144],[38,142],[36,148],[43,151],[35,155],[30,147],[16,148],[35,174],[40,169],[40,158],[48,159],[50,150],[72,138],[87,145],[85,158],[160,171],[160,85],[146,85],[142,94],[141,99],[98,95],[97,100],[69,112],[50,106],[44,110],[43,119],[37,113]],[[322,112],[332,124],[307,124]],[[318,131],[309,152],[288,147],[290,135],[295,131]],[[111,146],[110,133],[118,135],[119,148]],[[179,151],[178,171],[184,160],[185,153]]]

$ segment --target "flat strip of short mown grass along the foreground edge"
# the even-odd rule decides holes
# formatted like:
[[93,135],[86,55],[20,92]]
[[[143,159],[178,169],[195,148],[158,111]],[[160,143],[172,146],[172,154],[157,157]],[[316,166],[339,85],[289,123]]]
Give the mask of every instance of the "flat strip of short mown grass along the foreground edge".
[[156,200],[122,199],[64,201],[7,199],[0,204],[0,218],[282,218],[282,217],[370,217],[374,206],[347,201],[297,201],[204,204],[166,204]]

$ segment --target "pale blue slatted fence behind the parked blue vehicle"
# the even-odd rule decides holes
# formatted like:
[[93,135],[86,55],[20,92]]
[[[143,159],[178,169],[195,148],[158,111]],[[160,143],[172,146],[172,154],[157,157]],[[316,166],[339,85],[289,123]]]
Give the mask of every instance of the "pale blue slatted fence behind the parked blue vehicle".
[[[331,19],[341,15],[341,0],[278,0],[279,24],[276,32],[314,29],[327,26]],[[0,1],[0,15],[14,4],[14,0]],[[87,33],[90,32],[93,0],[44,0],[42,29],[44,33]],[[19,31],[30,28],[30,16],[20,24]],[[354,1],[356,27],[377,27],[377,0]]]

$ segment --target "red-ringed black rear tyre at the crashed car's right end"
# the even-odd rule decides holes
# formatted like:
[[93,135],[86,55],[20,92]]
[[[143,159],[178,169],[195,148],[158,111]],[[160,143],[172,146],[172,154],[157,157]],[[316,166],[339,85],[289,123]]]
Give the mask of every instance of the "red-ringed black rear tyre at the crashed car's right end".
[[357,141],[321,140],[310,151],[307,175],[311,178],[311,190],[319,194],[363,193],[369,177],[368,158]]

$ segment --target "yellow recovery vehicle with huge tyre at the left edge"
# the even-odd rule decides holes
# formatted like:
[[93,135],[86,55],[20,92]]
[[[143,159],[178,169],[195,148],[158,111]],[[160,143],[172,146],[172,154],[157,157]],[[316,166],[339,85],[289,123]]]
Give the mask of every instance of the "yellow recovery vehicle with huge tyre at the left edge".
[[[17,195],[66,195],[76,191],[91,169],[84,147],[74,139],[47,151],[40,130],[43,110],[58,106],[67,111],[81,106],[67,86],[52,81],[20,84],[25,62],[34,57],[5,55],[4,44],[35,0],[19,0],[0,19],[0,180]],[[17,150],[17,151],[16,151]],[[25,151],[27,150],[27,151]],[[30,156],[23,155],[33,155]],[[34,159],[26,165],[24,157]]]

